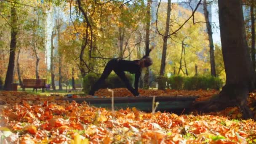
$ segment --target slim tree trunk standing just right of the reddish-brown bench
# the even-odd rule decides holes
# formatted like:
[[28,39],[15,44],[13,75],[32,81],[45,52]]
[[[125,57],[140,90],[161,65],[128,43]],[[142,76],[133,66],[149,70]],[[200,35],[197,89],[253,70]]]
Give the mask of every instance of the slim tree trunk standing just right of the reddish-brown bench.
[[51,65],[50,65],[50,71],[51,71],[51,87],[53,88],[53,91],[56,90],[55,88],[55,83],[54,83],[54,65],[53,65],[53,38],[54,38],[55,34],[54,34],[54,30],[51,32]]

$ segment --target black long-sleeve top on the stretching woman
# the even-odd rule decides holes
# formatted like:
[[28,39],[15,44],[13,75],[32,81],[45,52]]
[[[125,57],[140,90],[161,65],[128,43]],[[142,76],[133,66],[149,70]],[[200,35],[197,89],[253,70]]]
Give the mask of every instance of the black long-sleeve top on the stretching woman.
[[135,74],[134,89],[136,92],[138,92],[139,77],[141,76],[141,67],[139,66],[139,60],[118,60],[118,68],[120,70]]

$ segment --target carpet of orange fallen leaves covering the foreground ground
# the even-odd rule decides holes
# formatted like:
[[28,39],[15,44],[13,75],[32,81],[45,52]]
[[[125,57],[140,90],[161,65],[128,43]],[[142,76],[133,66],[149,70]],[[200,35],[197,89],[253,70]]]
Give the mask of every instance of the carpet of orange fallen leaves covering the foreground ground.
[[[146,93],[146,92],[145,92]],[[57,97],[59,98],[59,97]],[[254,99],[254,98],[253,98]],[[0,143],[246,144],[256,143],[256,123],[213,115],[115,112],[56,96],[0,92]]]

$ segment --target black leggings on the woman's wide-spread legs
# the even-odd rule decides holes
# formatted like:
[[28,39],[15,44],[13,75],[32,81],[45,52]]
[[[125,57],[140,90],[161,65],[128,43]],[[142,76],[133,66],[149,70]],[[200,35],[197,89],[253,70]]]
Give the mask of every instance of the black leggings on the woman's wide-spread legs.
[[109,76],[109,74],[112,72],[112,70],[114,70],[114,72],[117,74],[117,76],[121,78],[121,80],[125,83],[126,88],[128,88],[128,90],[131,91],[131,93],[134,96],[137,96],[139,94],[131,86],[131,83],[129,82],[128,78],[125,76],[124,71],[118,69],[118,60],[117,59],[112,59],[107,63],[107,65],[106,65],[101,77],[99,78],[99,80],[97,80],[97,82],[91,88],[91,91],[89,92],[89,95],[93,96],[95,91],[99,90],[102,83]]

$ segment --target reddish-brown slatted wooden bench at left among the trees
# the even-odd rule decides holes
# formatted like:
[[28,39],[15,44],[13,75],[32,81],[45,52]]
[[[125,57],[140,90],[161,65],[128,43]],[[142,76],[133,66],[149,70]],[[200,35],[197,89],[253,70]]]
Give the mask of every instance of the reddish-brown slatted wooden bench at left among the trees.
[[37,92],[37,88],[42,88],[42,92],[46,86],[46,79],[23,79],[22,87],[25,88],[35,88]]

